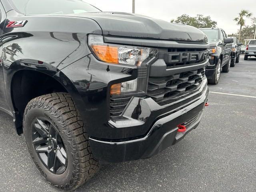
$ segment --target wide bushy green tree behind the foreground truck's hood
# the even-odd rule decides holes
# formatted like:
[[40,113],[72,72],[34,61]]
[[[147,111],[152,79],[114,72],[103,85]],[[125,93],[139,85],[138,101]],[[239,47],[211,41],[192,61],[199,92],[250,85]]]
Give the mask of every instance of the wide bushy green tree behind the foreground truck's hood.
[[194,26],[196,28],[210,28],[216,27],[217,22],[213,21],[210,16],[203,16],[198,14],[196,17],[190,17],[187,14],[179,16],[175,21],[171,22],[180,23],[184,25]]

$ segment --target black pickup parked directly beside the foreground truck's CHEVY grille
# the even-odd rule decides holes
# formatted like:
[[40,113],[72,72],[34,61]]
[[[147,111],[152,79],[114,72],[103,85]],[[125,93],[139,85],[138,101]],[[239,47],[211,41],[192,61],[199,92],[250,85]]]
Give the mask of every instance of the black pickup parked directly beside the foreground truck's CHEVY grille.
[[206,67],[206,77],[209,84],[218,84],[220,72],[229,72],[231,62],[231,48],[234,39],[228,38],[221,28],[201,28],[208,36],[210,44],[210,64]]

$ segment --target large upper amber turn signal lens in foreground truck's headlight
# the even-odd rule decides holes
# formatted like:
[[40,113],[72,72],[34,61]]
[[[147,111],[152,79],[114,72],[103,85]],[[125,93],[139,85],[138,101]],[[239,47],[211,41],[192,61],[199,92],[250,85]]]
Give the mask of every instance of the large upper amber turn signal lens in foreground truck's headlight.
[[92,50],[100,60],[108,63],[118,63],[118,47],[92,45]]

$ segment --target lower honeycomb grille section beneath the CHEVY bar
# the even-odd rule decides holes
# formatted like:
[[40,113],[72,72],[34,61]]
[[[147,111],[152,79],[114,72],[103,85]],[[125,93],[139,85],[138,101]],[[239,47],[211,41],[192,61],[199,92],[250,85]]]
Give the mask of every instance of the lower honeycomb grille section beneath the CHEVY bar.
[[166,98],[173,98],[195,90],[202,83],[205,69],[188,71],[167,77],[150,77],[148,96],[161,105]]

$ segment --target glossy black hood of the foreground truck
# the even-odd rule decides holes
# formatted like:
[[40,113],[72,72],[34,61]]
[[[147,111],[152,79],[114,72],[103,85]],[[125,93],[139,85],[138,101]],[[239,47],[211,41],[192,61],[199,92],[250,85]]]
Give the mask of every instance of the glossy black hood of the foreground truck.
[[103,35],[207,42],[207,36],[195,27],[170,23],[138,14],[97,12],[70,14],[69,16],[90,18],[96,21],[102,28]]

